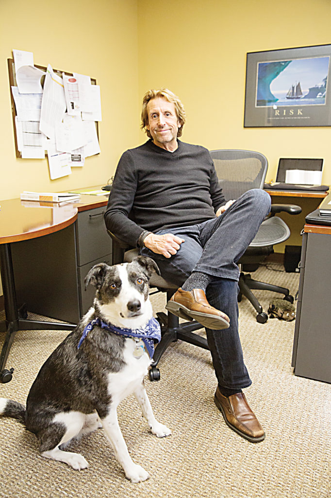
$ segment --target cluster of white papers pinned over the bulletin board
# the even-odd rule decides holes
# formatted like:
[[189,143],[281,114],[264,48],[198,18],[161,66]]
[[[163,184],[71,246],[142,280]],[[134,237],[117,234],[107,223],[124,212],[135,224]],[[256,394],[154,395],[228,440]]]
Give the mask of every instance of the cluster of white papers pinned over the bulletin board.
[[100,152],[95,126],[101,121],[100,87],[82,74],[59,76],[50,64],[46,73],[40,71],[32,52],[13,50],[13,56],[18,150],[23,159],[42,159],[47,150],[51,180],[69,175]]

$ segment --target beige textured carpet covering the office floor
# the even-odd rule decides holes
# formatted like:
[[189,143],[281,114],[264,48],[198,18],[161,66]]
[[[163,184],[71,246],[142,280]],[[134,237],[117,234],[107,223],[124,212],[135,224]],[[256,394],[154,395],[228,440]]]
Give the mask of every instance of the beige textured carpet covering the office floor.
[[[289,287],[292,294],[298,288],[294,273],[260,268],[254,276]],[[276,297],[256,295],[265,309]],[[164,295],[153,296],[153,304],[160,310]],[[33,434],[16,420],[0,418],[0,497],[330,498],[331,385],[293,374],[294,322],[258,324],[243,299],[240,329],[253,380],[246,395],[265,429],[262,443],[249,443],[223,421],[213,403],[209,352],[178,342],[160,362],[161,381],[146,380],[156,416],[172,436],[152,436],[133,397],[119,407],[129,452],[150,473],[148,481],[125,479],[102,430],[71,445],[90,465],[78,472],[40,457]],[[25,403],[40,366],[65,336],[17,333],[7,362],[15,373],[11,382],[0,384],[0,396]]]

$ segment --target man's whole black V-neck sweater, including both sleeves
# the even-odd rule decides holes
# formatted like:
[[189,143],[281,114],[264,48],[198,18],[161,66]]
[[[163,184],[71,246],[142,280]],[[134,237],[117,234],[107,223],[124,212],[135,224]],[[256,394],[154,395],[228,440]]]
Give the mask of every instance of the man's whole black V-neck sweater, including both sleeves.
[[178,140],[169,152],[148,140],[120,158],[104,217],[110,232],[135,247],[144,230],[210,220],[225,202],[206,148]]

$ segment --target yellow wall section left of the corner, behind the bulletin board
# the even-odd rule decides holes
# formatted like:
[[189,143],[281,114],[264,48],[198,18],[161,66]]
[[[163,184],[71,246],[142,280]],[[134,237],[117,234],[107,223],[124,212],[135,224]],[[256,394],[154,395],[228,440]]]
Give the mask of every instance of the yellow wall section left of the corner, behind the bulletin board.
[[[75,71],[101,89],[101,154],[50,180],[47,159],[16,159],[7,58],[33,52],[35,64]],[[0,200],[23,190],[64,191],[106,183],[120,154],[139,140],[137,1],[0,2]]]

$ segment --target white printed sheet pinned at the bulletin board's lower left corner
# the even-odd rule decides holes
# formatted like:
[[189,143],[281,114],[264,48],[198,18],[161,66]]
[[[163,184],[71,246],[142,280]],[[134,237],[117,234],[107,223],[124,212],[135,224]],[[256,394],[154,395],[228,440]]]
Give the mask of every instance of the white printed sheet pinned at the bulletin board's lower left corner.
[[45,137],[38,121],[18,121],[15,117],[17,148],[23,159],[44,159]]

